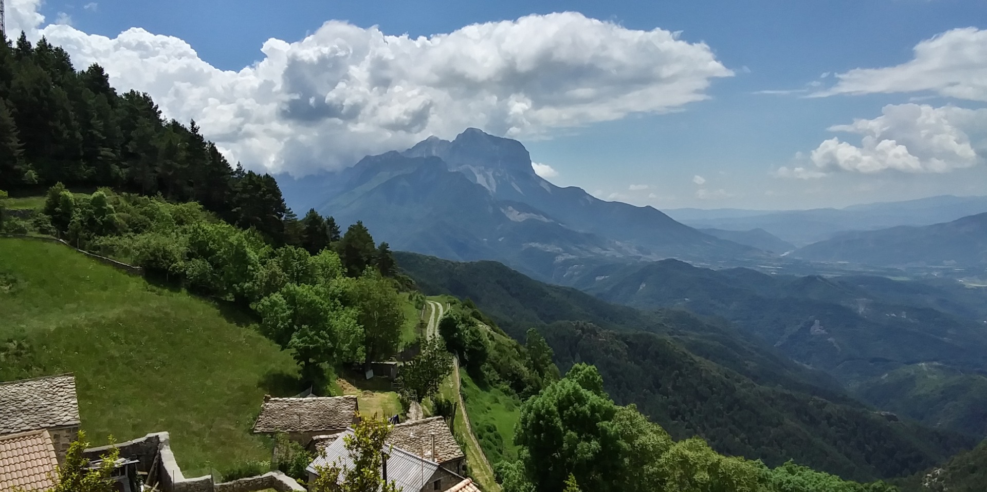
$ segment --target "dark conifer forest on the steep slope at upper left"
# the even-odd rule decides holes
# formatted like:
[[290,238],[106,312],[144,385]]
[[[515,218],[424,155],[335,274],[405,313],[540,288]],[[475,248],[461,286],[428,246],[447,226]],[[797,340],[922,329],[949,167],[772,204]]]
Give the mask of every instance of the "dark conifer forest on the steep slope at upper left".
[[[288,213],[274,178],[230,166],[194,121],[168,120],[146,94],[117,94],[99,65],[77,70],[44,38],[0,42],[0,189],[55,182],[197,201],[284,242]],[[289,217],[290,218],[290,217]]]

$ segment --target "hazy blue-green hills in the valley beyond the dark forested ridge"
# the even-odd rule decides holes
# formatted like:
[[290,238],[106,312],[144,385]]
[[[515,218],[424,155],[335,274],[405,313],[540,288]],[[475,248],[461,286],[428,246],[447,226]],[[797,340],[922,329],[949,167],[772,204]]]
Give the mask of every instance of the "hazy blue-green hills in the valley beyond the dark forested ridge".
[[987,289],[711,270],[676,260],[601,266],[571,285],[640,309],[722,317],[882,409],[987,433],[987,385],[977,376],[987,374]]

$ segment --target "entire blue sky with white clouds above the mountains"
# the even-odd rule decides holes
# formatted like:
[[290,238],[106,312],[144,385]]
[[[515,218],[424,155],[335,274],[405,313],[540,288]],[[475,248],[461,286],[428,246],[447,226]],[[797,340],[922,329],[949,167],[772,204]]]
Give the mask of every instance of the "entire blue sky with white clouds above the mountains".
[[467,127],[659,209],[987,194],[984,0],[6,0],[8,33],[305,176]]

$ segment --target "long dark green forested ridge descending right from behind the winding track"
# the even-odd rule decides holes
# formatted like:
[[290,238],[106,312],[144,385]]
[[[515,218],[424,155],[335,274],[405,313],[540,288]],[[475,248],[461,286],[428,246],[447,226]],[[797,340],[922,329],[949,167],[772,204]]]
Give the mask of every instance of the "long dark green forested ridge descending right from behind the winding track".
[[870,479],[910,474],[972,445],[950,433],[890,422],[838,390],[823,392],[810,383],[813,373],[686,313],[612,306],[492,261],[457,263],[405,252],[396,258],[424,292],[469,298],[515,337],[539,327],[562,369],[598,365],[618,403],[637,403],[673,436],[700,435],[721,453],[772,465],[794,458]]

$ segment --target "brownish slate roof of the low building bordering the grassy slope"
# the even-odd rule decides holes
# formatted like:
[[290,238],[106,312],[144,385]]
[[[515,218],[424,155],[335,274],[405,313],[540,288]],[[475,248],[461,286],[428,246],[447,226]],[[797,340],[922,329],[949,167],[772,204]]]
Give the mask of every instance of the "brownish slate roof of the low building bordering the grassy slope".
[[265,396],[254,432],[342,431],[353,424],[355,395],[306,398]]

